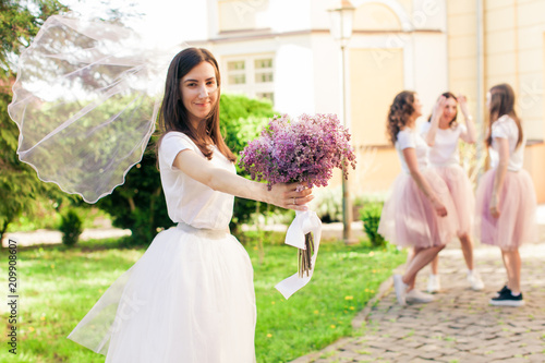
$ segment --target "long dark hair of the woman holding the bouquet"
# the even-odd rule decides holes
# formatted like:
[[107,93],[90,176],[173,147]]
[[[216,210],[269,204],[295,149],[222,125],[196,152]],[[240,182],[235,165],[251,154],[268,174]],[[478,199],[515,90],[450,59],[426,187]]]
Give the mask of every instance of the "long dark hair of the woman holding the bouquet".
[[[183,106],[180,82],[185,74],[202,62],[210,63],[216,71],[216,81],[218,83],[216,92],[218,93],[218,97],[210,113],[206,118],[206,122],[201,122],[198,128],[195,129],[190,122],[185,106]],[[165,134],[169,131],[179,131],[186,134],[195,143],[204,156],[211,159],[213,149],[206,142],[209,137],[218,147],[219,152],[231,162],[234,162],[237,157],[226,145],[219,129],[220,84],[221,80],[218,62],[208,50],[204,48],[186,48],[179,52],[170,62],[167,73],[165,97],[159,112],[159,128],[162,132],[162,136],[165,136]],[[162,136],[159,140],[158,145],[160,145]]]

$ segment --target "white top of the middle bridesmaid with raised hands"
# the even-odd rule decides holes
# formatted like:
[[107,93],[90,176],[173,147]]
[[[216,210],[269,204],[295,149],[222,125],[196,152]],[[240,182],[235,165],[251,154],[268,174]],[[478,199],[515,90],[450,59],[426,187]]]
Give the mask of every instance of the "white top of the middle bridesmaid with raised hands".
[[[423,137],[429,131],[432,124],[425,122],[422,125],[421,134]],[[439,129],[435,134],[435,144],[429,147],[428,158],[429,164],[434,167],[446,167],[449,165],[459,165],[460,156],[458,153],[458,140],[460,136],[468,132],[464,124],[458,123],[456,128]]]

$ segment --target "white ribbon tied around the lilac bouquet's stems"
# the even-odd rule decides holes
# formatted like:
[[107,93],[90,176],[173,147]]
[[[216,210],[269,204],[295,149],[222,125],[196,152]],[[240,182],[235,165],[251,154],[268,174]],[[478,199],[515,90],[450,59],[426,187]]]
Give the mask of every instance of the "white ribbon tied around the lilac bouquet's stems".
[[286,233],[286,244],[300,250],[306,250],[305,234],[310,232],[314,235],[314,253],[311,257],[312,268],[310,269],[308,275],[303,274],[303,277],[300,277],[298,271],[277,283],[276,289],[280,291],[286,299],[289,299],[293,293],[311,281],[314,268],[316,267],[319,239],[322,238],[322,220],[319,220],[316,213],[312,210],[295,210],[295,219],[293,219],[288,228],[288,232]]

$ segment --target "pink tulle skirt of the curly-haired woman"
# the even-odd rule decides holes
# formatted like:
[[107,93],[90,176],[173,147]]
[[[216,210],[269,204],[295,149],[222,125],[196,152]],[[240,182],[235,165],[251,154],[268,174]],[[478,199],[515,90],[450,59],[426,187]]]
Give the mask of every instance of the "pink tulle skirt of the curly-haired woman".
[[378,225],[378,233],[399,246],[445,245],[458,231],[458,216],[446,183],[433,169],[421,172],[448,215],[439,217],[412,177],[402,172],[393,182]]

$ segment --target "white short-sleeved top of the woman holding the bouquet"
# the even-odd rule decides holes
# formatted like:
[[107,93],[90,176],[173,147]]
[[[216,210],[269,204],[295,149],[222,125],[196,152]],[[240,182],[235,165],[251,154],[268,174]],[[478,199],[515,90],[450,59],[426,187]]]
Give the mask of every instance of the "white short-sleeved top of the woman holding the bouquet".
[[[167,133],[159,147],[159,169],[170,219],[199,229],[227,229],[233,214],[234,196],[214,191],[174,167],[174,158],[184,149],[192,149],[205,158],[195,143],[181,132]],[[234,165],[216,146],[209,162],[237,172]]]

